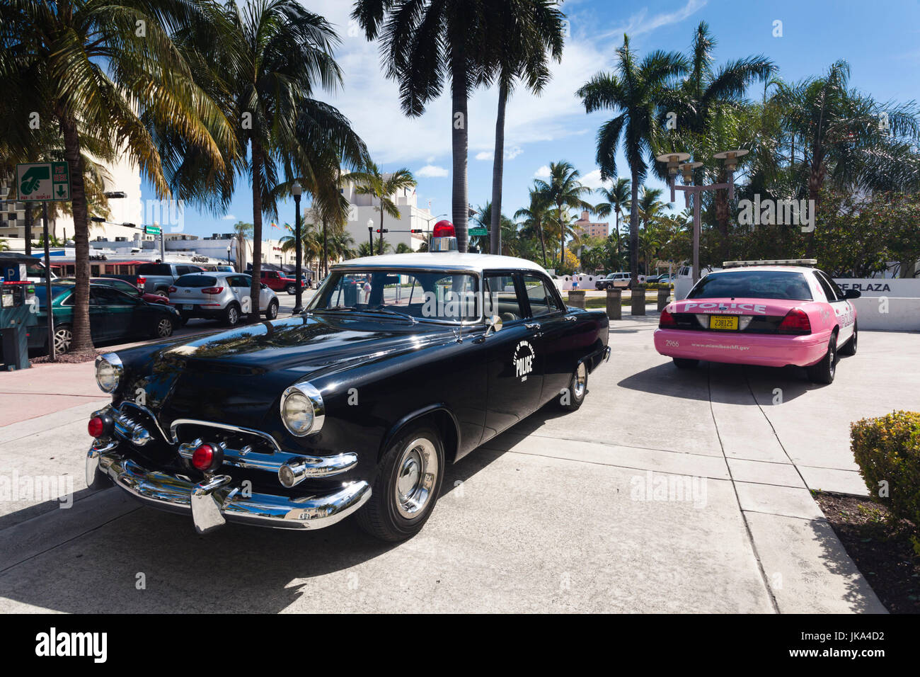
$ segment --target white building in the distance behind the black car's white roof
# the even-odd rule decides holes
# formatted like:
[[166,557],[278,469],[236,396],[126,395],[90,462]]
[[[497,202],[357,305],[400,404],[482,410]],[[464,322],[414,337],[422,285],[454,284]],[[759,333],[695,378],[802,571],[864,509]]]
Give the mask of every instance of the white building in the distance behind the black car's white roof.
[[[355,186],[351,183],[342,188],[341,193],[351,203],[345,229],[354,239],[355,247],[368,241],[367,222],[372,221],[374,251],[377,251],[376,248],[380,242],[380,234],[376,232],[377,228],[380,228],[380,201],[371,195],[357,193]],[[406,244],[412,251],[418,251],[420,246],[428,241],[428,234],[434,226],[434,216],[431,216],[431,210],[419,207],[418,195],[414,188],[397,191],[390,195],[390,199],[397,205],[399,218],[384,215],[384,228],[388,231],[384,233],[384,241],[389,243],[394,250],[399,244]],[[412,233],[411,230],[421,232]]]

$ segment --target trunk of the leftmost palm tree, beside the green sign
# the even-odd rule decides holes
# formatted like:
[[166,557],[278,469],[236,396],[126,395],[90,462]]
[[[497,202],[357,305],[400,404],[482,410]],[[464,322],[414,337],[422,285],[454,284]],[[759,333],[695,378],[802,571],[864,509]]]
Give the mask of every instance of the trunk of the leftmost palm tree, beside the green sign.
[[[86,188],[83,183],[83,156],[80,137],[73,115],[59,115],[63,134],[63,158],[70,168],[70,199],[74,215],[75,278],[74,289],[74,339],[71,350],[92,350],[93,339],[89,326],[89,221],[86,214]],[[54,340],[48,337],[49,342]]]

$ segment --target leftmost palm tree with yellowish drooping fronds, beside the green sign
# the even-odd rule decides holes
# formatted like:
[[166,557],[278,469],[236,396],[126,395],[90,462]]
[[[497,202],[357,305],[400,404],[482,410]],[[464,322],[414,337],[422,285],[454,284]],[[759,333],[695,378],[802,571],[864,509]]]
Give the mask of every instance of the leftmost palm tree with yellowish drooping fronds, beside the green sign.
[[[220,21],[215,6],[182,0],[0,4],[3,110],[17,111],[3,116],[5,155],[34,159],[53,129],[70,167],[75,351],[92,347],[84,150],[103,162],[126,155],[159,197],[170,191],[152,127],[168,130],[190,156],[216,170],[236,153],[231,124],[195,84],[185,55],[172,41],[172,29],[183,23],[217,26]],[[38,130],[23,111],[38,114]]]

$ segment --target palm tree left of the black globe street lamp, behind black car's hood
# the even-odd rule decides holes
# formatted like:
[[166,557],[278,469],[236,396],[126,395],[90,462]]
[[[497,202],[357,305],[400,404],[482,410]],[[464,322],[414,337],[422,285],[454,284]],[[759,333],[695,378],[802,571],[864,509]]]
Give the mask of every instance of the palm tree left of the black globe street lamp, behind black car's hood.
[[[341,85],[341,72],[333,57],[339,37],[325,18],[306,10],[297,0],[254,0],[243,6],[227,0],[223,20],[220,39],[206,44],[203,49],[209,51],[197,65],[206,74],[209,91],[239,121],[236,144],[248,151],[236,160],[233,173],[224,174],[222,189],[224,198],[232,195],[237,174],[246,174],[251,184],[253,261],[249,294],[252,308],[259,308],[262,216],[277,217],[278,200],[290,194],[295,179],[302,180],[305,190],[316,190],[307,166],[310,149],[305,147],[315,125],[307,124],[305,130],[303,121],[305,108],[316,109],[316,88],[334,91]],[[204,40],[200,30],[190,30],[183,37],[186,49]],[[320,157],[328,174],[331,163],[325,155]],[[177,183],[194,185],[195,165],[187,162],[183,169],[187,171],[177,174]]]

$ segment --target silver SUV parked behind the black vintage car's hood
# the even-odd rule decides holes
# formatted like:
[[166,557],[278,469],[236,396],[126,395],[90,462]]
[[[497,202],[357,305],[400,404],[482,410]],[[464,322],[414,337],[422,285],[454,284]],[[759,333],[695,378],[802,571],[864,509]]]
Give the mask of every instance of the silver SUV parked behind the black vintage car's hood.
[[[169,287],[169,305],[178,310],[183,323],[190,318],[210,318],[232,327],[250,312],[251,284],[252,277],[245,273],[182,275]],[[278,317],[278,297],[264,284],[259,294],[259,314],[269,320]]]

